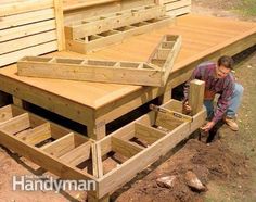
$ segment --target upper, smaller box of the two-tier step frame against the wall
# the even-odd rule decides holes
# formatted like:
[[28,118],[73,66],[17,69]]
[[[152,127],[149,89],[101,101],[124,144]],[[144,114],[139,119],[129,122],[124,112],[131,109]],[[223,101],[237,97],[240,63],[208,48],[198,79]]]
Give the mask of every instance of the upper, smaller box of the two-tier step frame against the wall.
[[161,5],[152,5],[138,10],[135,8],[129,11],[113,13],[111,16],[102,15],[102,18],[91,21],[85,20],[86,23],[80,22],[79,25],[66,26],[66,37],[69,39],[78,39],[85,36],[91,36],[115,28],[132,25],[146,20],[161,17],[165,14],[165,8]]

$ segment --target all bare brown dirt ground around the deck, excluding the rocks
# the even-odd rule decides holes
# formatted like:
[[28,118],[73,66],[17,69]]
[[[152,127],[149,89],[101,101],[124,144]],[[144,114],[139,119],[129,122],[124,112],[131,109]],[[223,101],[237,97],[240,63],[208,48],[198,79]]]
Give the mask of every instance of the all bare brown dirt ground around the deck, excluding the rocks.
[[[236,11],[241,0],[194,0],[192,11],[207,15],[255,21],[256,17],[243,15]],[[256,52],[245,60],[239,58],[236,76],[244,86],[243,102],[239,112],[239,132],[223,126],[219,131],[220,140],[209,146],[189,140],[182,149],[167,154],[161,165],[156,163],[142,172],[136,180],[123,187],[112,195],[113,201],[256,201]],[[174,154],[174,155],[172,155]],[[11,157],[10,157],[11,156]],[[158,163],[159,163],[158,162]],[[199,192],[185,181],[185,173],[192,171],[206,187]],[[18,192],[11,191],[13,175],[40,175],[43,171],[29,161],[0,148],[0,202],[27,201],[82,201],[79,192]],[[50,175],[50,174],[44,174]],[[174,176],[171,188],[163,187],[156,179]]]

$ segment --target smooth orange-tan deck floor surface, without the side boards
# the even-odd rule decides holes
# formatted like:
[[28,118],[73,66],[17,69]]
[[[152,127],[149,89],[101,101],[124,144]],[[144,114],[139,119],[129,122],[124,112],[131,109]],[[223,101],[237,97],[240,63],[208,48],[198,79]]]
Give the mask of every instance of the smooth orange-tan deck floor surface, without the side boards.
[[[220,50],[234,42],[238,38],[254,33],[256,33],[256,24],[254,23],[189,14],[178,17],[177,24],[174,26],[127,39],[123,43],[110,46],[93,53],[82,55],[63,51],[52,53],[51,55],[146,61],[163,35],[178,34],[182,36],[182,48],[175,63],[174,73],[200,59],[200,56],[209,54],[218,49]],[[16,72],[16,65],[10,65],[0,70],[2,76],[7,76],[15,81],[25,83],[95,110],[118,101],[118,99],[127,97],[142,88],[150,88],[129,85],[28,78],[17,76]]]

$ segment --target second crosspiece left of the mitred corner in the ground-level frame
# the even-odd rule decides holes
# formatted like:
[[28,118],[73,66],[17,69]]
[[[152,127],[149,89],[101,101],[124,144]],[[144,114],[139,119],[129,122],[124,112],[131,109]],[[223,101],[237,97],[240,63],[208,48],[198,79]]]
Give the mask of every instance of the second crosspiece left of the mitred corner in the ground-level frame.
[[75,148],[74,143],[74,134],[71,132],[66,136],[63,136],[62,138],[53,141],[52,143],[47,144],[46,147],[42,147],[42,151],[54,155],[56,157],[64,155],[65,153],[69,152]]

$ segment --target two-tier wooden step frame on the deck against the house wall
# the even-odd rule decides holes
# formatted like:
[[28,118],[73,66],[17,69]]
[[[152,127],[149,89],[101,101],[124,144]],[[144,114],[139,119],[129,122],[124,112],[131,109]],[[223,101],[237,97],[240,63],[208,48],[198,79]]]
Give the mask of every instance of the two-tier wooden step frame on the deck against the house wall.
[[65,26],[68,50],[87,53],[174,23],[163,5],[144,5],[82,18]]

